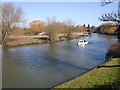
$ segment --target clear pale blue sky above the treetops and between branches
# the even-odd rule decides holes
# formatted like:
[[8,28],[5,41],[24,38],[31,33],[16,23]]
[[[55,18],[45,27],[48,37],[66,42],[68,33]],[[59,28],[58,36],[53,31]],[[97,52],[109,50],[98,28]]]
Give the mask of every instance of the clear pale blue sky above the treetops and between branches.
[[100,25],[98,17],[105,12],[116,11],[117,3],[100,6],[100,2],[14,2],[24,12],[27,23],[32,20],[45,21],[47,17],[56,17],[58,21],[71,19],[76,25]]

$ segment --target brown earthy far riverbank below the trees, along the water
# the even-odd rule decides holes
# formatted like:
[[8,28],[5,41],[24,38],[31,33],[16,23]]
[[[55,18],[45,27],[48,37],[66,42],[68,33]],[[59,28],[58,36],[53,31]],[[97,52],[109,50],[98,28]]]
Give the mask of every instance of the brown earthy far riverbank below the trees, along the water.
[[50,43],[50,42],[60,42],[65,40],[77,39],[80,37],[85,37],[88,35],[73,35],[70,38],[61,37],[56,38],[54,41],[50,41],[48,37],[41,37],[41,36],[11,36],[5,46],[3,47],[16,47],[16,46],[23,46],[23,45],[33,45],[33,44],[43,44],[43,43]]

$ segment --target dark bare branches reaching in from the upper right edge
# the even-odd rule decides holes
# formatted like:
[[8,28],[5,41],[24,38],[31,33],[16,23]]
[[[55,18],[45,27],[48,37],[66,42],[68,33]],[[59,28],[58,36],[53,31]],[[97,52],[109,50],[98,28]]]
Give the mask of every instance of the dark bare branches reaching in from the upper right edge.
[[[102,6],[105,6],[107,4],[110,4],[113,2],[107,2],[104,0],[104,2],[101,2]],[[120,41],[120,1],[118,1],[118,10],[116,12],[111,12],[111,13],[105,13],[101,17],[99,17],[100,21],[112,21],[116,23],[117,28],[117,36],[118,36],[118,41]]]

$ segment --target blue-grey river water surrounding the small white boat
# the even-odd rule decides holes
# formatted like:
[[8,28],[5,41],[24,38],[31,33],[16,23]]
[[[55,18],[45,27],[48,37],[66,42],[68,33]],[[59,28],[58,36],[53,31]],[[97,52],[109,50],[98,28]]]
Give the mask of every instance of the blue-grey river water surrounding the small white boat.
[[92,34],[89,43],[77,46],[79,39],[32,46],[4,48],[3,88],[51,88],[105,62],[115,36]]

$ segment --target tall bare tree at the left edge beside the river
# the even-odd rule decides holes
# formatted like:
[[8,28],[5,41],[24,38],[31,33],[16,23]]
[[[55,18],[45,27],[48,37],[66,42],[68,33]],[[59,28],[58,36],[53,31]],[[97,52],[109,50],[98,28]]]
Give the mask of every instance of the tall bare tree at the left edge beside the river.
[[22,16],[23,12],[20,7],[15,7],[11,3],[2,3],[2,45],[7,42],[16,26],[22,22]]

